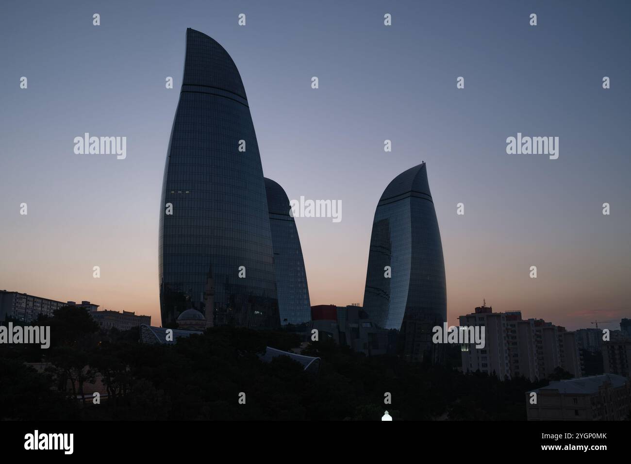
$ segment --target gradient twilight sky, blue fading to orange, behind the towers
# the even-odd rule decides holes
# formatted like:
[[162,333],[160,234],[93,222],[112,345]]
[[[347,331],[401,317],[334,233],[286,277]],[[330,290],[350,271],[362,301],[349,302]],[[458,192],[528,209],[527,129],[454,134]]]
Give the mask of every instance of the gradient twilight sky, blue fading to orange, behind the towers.
[[[486,299],[617,329],[631,316],[630,15],[623,1],[5,4],[0,289],[160,324],[160,191],[191,27],[239,68],[264,175],[290,199],[342,201],[339,223],[296,220],[312,304],[362,303],[377,201],[425,160],[450,323]],[[126,136],[127,158],[75,155],[85,132]],[[558,136],[559,158],[507,155],[518,132]]]

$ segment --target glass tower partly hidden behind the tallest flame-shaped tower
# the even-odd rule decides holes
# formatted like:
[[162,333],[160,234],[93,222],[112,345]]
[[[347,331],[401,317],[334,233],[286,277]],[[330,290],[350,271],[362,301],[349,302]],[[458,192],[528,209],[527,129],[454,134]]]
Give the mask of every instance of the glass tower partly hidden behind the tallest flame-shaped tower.
[[274,270],[281,325],[302,324],[311,320],[305,261],[302,258],[296,222],[289,214],[289,198],[283,187],[265,178],[269,225],[274,247]]

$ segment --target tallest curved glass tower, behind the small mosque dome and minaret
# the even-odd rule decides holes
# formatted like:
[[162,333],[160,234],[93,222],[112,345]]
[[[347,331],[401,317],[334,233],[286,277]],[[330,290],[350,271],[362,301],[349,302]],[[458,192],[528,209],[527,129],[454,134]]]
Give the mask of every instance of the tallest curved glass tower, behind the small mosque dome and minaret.
[[158,249],[163,325],[192,307],[216,325],[278,327],[268,205],[244,86],[223,47],[192,29],[164,171]]

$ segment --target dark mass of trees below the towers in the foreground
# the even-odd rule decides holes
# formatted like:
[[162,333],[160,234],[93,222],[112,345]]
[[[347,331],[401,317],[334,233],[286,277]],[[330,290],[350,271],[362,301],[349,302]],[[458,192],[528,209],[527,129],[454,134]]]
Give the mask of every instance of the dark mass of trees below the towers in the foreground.
[[[285,331],[221,327],[145,345],[138,328],[99,330],[75,307],[37,324],[50,325],[50,348],[0,345],[0,420],[379,420],[384,410],[394,420],[525,420],[525,392],[547,383],[366,357],[328,341],[302,352],[321,357],[317,376],[288,357],[262,362],[266,346],[299,345]],[[38,372],[28,362],[51,366]],[[107,391],[99,405],[86,390],[95,381]]]

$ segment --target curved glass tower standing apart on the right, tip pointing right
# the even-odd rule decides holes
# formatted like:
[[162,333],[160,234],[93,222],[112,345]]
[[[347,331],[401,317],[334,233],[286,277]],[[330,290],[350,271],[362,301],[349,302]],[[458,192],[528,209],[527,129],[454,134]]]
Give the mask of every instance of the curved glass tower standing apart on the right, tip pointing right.
[[445,264],[425,163],[399,174],[377,204],[363,309],[380,328],[398,331],[392,351],[442,359],[432,328],[447,320]]

